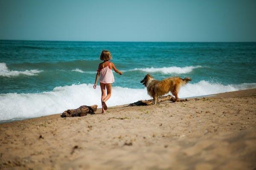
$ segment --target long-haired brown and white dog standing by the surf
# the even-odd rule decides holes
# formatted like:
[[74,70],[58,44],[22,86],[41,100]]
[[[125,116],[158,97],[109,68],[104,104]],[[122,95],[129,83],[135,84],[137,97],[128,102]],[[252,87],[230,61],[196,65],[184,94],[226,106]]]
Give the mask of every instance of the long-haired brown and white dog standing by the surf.
[[191,81],[190,77],[181,79],[180,77],[169,77],[161,81],[154,79],[150,74],[147,74],[141,83],[147,88],[148,94],[153,97],[154,104],[157,104],[157,98],[171,92],[176,101],[179,100],[178,93],[180,87]]

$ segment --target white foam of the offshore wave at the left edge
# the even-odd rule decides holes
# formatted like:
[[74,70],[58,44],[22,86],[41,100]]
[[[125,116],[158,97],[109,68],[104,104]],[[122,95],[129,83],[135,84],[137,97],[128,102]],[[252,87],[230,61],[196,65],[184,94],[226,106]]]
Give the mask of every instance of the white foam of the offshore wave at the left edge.
[[6,66],[5,62],[0,62],[0,76],[3,77],[15,77],[20,74],[27,76],[36,76],[38,73],[42,72],[41,70],[26,70],[26,71],[10,71]]

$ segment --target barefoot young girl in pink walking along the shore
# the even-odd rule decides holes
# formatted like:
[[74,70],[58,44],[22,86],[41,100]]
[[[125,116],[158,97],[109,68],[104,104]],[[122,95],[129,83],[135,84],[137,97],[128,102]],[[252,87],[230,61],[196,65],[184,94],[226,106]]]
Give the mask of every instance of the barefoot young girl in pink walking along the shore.
[[[99,79],[99,85],[102,91],[102,113],[105,114],[105,110],[108,109],[106,105],[106,101],[110,98],[111,96],[111,84],[115,82],[114,75],[112,72],[112,68],[114,71],[120,75],[122,75],[122,71],[119,71],[116,69],[115,65],[113,62],[110,62],[109,60],[112,59],[112,56],[108,50],[103,50],[102,53],[100,54],[100,59],[103,60],[104,62],[99,64],[99,68],[97,70],[96,78],[95,78],[95,83],[93,85],[93,88],[96,89],[96,85]],[[99,78],[100,75],[100,78]],[[105,88],[107,88],[107,96],[105,95]]]

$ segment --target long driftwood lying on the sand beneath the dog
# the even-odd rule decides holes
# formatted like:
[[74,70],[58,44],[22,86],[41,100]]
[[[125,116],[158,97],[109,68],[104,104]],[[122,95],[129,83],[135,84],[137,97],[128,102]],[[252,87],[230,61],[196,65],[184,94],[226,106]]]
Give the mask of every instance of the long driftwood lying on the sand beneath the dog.
[[[163,101],[166,101],[166,100],[176,102],[175,97],[173,97],[172,95],[160,96],[157,99],[157,102],[163,102]],[[179,99],[179,101],[177,101],[177,102],[185,102],[185,101],[188,101],[188,100],[187,99]],[[151,100],[140,100],[138,102],[131,103],[129,106],[147,106],[147,105],[153,105],[153,104],[154,104],[154,100],[151,99]]]

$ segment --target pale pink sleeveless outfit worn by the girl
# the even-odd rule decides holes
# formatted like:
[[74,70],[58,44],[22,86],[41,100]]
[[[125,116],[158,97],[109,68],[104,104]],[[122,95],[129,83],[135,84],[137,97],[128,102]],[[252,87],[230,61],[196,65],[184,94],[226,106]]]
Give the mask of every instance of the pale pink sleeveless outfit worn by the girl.
[[115,82],[112,69],[110,68],[110,63],[111,62],[108,62],[108,66],[98,70],[100,71],[99,82],[105,83],[105,84],[110,84]]

